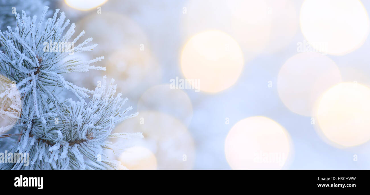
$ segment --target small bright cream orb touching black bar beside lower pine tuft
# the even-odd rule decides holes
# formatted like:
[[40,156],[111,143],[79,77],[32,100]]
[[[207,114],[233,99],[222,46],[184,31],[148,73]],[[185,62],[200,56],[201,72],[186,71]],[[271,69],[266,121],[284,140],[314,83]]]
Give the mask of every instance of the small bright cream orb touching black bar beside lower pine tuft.
[[128,169],[148,170],[157,169],[157,159],[152,151],[141,146],[127,148],[119,160]]

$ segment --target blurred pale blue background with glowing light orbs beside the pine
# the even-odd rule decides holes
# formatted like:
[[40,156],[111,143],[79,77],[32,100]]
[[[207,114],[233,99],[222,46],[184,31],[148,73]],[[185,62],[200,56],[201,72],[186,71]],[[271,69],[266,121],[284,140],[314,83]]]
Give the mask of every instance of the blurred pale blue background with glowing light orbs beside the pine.
[[110,154],[127,168],[370,168],[370,1],[49,3],[107,67],[65,76],[139,112],[114,130],[143,132]]

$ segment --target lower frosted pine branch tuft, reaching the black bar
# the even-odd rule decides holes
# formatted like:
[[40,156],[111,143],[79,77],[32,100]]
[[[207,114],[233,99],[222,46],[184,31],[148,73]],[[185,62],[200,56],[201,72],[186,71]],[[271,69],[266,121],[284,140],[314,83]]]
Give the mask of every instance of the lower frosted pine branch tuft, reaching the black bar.
[[[68,99],[60,107],[64,115],[34,119],[30,131],[8,153],[30,153],[30,165],[0,163],[1,169],[112,169],[120,163],[110,160],[103,150],[111,149],[107,138],[141,137],[136,134],[111,134],[114,124],[137,115],[123,109],[127,99],[115,95],[114,80],[106,87],[105,77],[87,105]],[[51,110],[55,110],[55,107]],[[101,159],[101,160],[100,160]]]

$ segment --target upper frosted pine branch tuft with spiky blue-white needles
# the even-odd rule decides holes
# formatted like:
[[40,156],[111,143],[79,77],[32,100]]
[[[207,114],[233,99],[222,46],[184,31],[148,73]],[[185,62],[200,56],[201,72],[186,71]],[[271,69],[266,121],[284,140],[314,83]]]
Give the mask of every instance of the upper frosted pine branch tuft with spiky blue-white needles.
[[[74,47],[71,42],[78,41],[84,32],[72,41],[75,25],[71,24],[63,34],[70,23],[65,20],[64,13],[57,17],[57,9],[53,18],[44,21],[46,12],[47,7],[37,23],[36,16],[31,19],[22,11],[22,16],[16,14],[16,28],[8,27],[6,32],[0,32],[0,44],[3,45],[3,52],[0,52],[0,63],[3,66],[0,67],[0,72],[15,81],[21,93],[26,93],[22,114],[29,118],[34,115],[40,117],[44,110],[49,110],[48,101],[57,106],[55,93],[62,89],[70,90],[80,100],[89,97],[90,90],[65,81],[63,73],[86,72],[89,69],[105,70],[103,67],[90,65],[104,57],[82,61],[71,55],[91,51],[96,47],[96,44],[87,45],[92,38]],[[54,43],[64,43],[63,50],[58,50],[60,45]]]

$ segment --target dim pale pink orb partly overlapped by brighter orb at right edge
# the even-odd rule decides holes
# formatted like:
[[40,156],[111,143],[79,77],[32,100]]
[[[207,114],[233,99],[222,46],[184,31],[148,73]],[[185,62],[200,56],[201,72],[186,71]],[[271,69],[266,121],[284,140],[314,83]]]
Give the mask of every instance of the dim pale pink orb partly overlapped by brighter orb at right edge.
[[277,77],[277,92],[289,110],[313,116],[322,93],[341,81],[340,71],[329,57],[304,52],[290,57],[282,66]]

